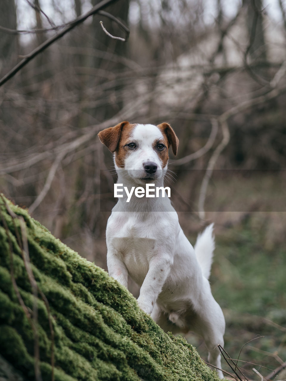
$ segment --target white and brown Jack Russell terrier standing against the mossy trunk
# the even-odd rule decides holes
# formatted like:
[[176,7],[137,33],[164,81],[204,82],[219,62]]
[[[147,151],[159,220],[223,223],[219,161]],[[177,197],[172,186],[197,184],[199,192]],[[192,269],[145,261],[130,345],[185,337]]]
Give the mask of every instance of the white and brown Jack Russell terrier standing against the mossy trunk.
[[[132,187],[163,187],[168,149],[177,154],[178,138],[168,123],[122,122],[98,134],[114,153],[117,184],[128,189],[112,209],[106,227],[107,266],[127,287],[128,275],[140,286],[138,304],[165,331],[194,331],[204,338],[208,361],[223,378],[220,351],[225,319],[210,291],[215,247],[213,224],[198,235],[193,248],[168,197],[138,197]],[[134,189],[134,188],[133,188]],[[127,191],[126,191],[127,192]]]

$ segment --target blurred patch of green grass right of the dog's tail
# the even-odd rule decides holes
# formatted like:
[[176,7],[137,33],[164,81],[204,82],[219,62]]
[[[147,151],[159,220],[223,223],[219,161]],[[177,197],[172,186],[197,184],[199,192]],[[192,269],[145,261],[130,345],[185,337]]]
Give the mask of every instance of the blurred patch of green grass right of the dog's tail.
[[[285,265],[285,250],[267,250],[263,232],[257,234],[244,223],[217,239],[212,290],[222,308],[273,317],[275,310],[286,311]],[[278,320],[286,324],[286,314]]]

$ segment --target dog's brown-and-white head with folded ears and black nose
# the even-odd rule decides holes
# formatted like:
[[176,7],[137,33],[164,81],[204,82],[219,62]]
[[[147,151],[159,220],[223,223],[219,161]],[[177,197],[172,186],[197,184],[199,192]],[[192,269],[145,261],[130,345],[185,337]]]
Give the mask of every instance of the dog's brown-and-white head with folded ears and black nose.
[[155,126],[122,122],[106,128],[98,136],[114,152],[116,171],[138,184],[164,177],[170,146],[177,154],[178,138],[168,123]]

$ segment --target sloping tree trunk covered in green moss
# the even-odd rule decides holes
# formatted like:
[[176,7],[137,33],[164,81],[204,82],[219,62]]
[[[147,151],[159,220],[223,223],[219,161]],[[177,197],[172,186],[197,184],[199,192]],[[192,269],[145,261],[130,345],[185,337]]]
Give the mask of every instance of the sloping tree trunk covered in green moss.
[[26,210],[4,198],[0,208],[0,355],[16,374],[35,378],[35,336],[15,288],[30,312],[34,296],[19,245],[20,221],[11,211],[24,218],[23,240],[29,245],[32,271],[50,307],[49,314],[39,292],[37,332],[44,381],[52,378],[49,317],[55,380],[218,380],[194,347],[165,334],[103,269],[53,237]]

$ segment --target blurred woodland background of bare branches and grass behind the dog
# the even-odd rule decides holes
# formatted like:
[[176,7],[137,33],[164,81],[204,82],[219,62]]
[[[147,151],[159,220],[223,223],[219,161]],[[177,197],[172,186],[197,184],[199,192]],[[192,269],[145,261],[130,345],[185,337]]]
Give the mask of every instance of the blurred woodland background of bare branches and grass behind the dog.
[[[96,3],[1,0],[1,77]],[[240,359],[266,377],[286,360],[286,2],[118,0],[105,10],[129,27],[127,42],[104,34],[100,20],[125,37],[95,14],[0,88],[1,190],[106,269],[114,175],[96,134],[122,120],[169,122],[183,230],[194,243],[204,224],[216,226],[210,282],[225,348],[236,359],[265,336]]]

